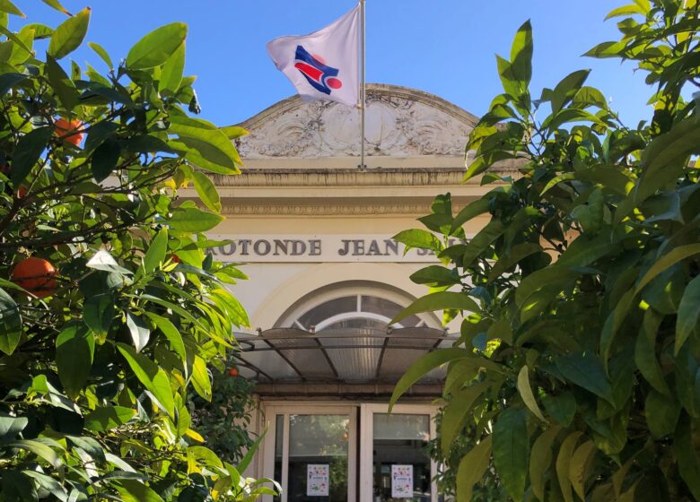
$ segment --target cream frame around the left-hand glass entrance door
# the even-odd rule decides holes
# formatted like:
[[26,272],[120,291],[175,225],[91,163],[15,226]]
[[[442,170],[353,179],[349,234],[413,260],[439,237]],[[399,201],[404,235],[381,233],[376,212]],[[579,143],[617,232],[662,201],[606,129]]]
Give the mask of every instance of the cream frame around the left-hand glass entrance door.
[[[289,470],[289,415],[347,415],[350,419],[347,433],[347,500],[357,500],[357,406],[343,403],[317,403],[317,402],[270,402],[265,406],[265,420],[267,421],[267,435],[263,440],[263,472],[270,478],[275,475],[275,440],[276,440],[276,416],[283,415],[284,442],[282,445],[282,502],[287,502],[287,482]],[[272,496],[265,495],[263,502],[272,502]]]

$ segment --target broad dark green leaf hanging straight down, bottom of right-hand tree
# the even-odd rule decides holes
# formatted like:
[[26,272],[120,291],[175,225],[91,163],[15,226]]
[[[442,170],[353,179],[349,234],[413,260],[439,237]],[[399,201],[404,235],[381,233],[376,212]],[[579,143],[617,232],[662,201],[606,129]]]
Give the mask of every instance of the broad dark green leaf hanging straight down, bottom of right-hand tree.
[[528,477],[529,435],[525,411],[508,408],[494,426],[494,465],[514,500],[522,500]]

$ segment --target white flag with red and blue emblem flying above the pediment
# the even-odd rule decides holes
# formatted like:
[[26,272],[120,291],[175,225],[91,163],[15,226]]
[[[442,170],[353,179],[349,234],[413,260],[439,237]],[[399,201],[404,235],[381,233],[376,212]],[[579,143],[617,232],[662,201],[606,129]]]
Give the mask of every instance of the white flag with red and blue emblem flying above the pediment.
[[302,100],[359,100],[360,7],[311,35],[280,37],[267,43],[267,54],[301,94]]

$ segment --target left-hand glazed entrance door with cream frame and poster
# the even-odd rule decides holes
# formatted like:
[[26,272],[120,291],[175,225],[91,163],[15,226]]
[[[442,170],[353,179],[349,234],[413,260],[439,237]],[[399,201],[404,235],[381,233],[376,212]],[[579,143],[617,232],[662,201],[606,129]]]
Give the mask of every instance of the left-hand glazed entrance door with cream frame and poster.
[[[279,502],[354,502],[356,408],[269,406],[265,472],[283,488]],[[269,498],[267,498],[269,499]]]

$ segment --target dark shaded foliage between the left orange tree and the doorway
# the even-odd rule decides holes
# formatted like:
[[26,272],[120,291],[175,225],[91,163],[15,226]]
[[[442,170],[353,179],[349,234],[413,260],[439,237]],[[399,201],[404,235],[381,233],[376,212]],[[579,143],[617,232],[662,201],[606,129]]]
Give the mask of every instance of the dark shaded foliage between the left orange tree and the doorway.
[[197,398],[193,423],[214,453],[227,462],[240,462],[255,443],[248,430],[250,411],[256,405],[254,387],[255,383],[246,378],[214,371],[211,400]]

